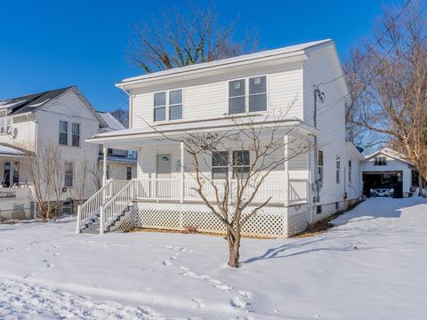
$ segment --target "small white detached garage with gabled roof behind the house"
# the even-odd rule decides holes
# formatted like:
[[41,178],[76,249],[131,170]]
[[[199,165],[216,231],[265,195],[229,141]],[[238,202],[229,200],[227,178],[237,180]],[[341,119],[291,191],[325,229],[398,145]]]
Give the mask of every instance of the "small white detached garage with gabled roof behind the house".
[[365,196],[407,197],[413,186],[414,165],[391,148],[366,156],[362,164]]

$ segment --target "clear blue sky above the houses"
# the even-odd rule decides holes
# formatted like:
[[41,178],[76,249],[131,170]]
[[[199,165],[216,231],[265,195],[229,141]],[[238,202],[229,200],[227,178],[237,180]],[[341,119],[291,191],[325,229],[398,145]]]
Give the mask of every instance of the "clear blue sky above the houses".
[[[333,38],[345,59],[351,45],[369,35],[384,3],[218,0],[214,4],[221,20],[238,17],[238,39],[252,27],[258,29],[262,49]],[[74,84],[97,109],[127,108],[114,84],[143,73],[125,59],[130,28],[173,5],[185,12],[187,1],[2,1],[0,100]]]

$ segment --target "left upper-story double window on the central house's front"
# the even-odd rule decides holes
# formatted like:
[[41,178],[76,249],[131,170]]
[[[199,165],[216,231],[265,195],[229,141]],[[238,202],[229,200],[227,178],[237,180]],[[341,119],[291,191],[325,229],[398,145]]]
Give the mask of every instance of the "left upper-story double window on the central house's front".
[[154,121],[182,119],[182,89],[154,93]]

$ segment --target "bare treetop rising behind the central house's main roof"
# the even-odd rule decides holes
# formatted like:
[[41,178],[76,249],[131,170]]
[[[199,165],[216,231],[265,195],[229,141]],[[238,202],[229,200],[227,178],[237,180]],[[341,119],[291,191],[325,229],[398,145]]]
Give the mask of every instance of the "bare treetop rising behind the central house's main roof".
[[150,73],[252,52],[258,36],[246,32],[242,43],[233,40],[235,22],[222,24],[214,5],[202,9],[188,4],[183,14],[177,9],[133,28],[128,55],[131,62]]

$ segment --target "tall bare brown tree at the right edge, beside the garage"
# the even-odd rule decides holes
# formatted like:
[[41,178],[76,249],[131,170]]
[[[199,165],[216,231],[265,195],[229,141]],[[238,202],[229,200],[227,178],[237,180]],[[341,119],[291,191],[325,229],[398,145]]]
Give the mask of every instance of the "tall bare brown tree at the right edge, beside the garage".
[[377,45],[352,52],[347,80],[352,89],[350,124],[392,143],[420,172],[427,172],[427,20],[420,1],[398,15],[384,12]]

